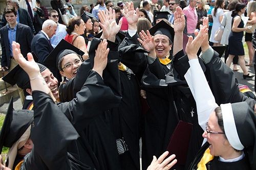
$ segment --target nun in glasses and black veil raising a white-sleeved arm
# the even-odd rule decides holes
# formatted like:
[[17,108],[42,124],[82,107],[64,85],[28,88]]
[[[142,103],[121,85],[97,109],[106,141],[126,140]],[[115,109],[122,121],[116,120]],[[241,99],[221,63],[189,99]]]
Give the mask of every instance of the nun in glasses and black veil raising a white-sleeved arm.
[[196,101],[198,122],[205,130],[203,137],[207,142],[189,169],[255,170],[255,114],[247,102],[216,104],[197,57],[202,39],[207,40],[208,37],[206,26],[203,29],[194,41],[189,37],[186,53],[190,68],[185,79]]

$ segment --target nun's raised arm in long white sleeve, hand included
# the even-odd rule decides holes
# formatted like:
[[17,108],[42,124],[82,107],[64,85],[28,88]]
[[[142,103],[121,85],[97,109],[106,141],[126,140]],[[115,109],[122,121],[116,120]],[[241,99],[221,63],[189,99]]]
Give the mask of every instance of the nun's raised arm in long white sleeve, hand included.
[[194,40],[191,36],[188,38],[186,46],[190,68],[185,74],[185,79],[196,101],[198,122],[203,130],[205,130],[205,123],[210,113],[218,107],[197,57],[202,40],[208,37],[207,31],[206,26],[202,27]]

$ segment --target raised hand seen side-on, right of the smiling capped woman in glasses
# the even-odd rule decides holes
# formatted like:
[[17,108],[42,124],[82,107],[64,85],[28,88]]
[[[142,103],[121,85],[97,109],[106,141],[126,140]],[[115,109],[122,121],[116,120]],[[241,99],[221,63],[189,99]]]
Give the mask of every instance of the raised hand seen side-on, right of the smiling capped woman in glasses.
[[93,70],[98,72],[98,74],[102,77],[102,72],[106,67],[106,63],[108,62],[108,54],[110,49],[106,48],[108,42],[104,39],[99,43],[98,48],[96,50],[95,58],[94,58],[94,66]]

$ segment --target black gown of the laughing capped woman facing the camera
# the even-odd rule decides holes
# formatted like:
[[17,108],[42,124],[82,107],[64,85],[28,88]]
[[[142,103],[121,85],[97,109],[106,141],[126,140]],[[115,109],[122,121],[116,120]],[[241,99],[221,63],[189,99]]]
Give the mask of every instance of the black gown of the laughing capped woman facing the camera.
[[[183,56],[181,51],[174,58]],[[171,67],[173,63],[171,62]],[[166,65],[156,59],[148,64],[142,77],[142,87],[146,90],[146,100],[150,109],[144,118],[142,135],[142,169],[146,169],[153,155],[159,157],[166,151],[179,120],[178,107],[175,105],[174,89],[165,84],[165,75],[169,72]],[[181,84],[177,79],[176,84]],[[178,166],[175,166],[179,169]]]

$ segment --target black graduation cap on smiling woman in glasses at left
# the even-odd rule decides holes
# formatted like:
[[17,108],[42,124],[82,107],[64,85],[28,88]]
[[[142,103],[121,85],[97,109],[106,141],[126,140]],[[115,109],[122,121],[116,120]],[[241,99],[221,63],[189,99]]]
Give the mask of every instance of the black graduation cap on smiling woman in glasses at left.
[[61,70],[60,63],[64,56],[68,54],[78,54],[83,56],[84,52],[79,48],[75,47],[65,39],[62,39],[58,45],[53,49],[53,51],[46,57],[44,63],[51,68],[58,68]]

